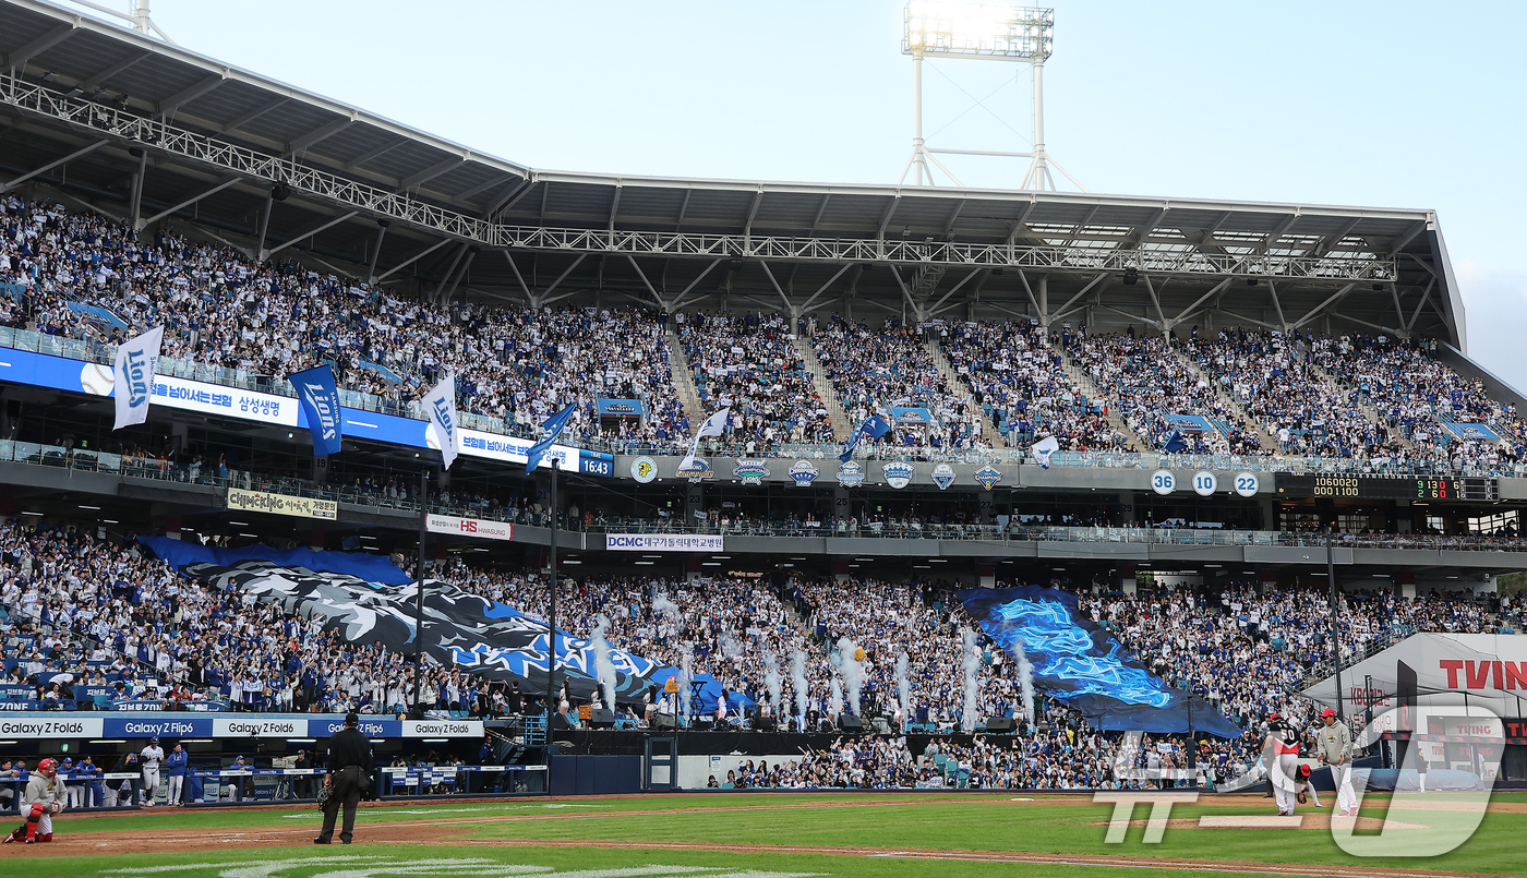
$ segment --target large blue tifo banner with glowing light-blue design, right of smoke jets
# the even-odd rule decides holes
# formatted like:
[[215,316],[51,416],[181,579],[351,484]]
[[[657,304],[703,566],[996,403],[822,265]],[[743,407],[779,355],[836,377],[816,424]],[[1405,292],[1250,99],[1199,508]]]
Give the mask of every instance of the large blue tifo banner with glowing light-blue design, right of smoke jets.
[[965,612],[1009,655],[1017,643],[1034,666],[1034,686],[1106,731],[1240,738],[1241,728],[1209,701],[1168,687],[1109,629],[1084,618],[1077,596],[1054,588],[974,588],[956,592]]

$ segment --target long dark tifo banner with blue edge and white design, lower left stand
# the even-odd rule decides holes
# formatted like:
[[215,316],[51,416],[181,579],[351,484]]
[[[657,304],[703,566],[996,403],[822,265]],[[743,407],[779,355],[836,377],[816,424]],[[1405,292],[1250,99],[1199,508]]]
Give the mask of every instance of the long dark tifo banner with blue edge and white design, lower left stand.
[[[376,643],[412,655],[417,588],[388,559],[348,551],[214,548],[162,536],[139,537],[182,574],[218,591],[250,594],[279,603],[304,618],[322,618],[351,643]],[[525,693],[547,690],[547,626],[507,605],[467,594],[440,580],[425,580],[425,649],[441,664],[518,681]],[[661,684],[673,669],[609,650],[615,667],[615,699],[640,702],[647,686]],[[586,699],[597,681],[594,644],[557,631],[557,669],[574,698]],[[710,695],[719,695],[719,684]],[[702,698],[704,701],[704,698]]]

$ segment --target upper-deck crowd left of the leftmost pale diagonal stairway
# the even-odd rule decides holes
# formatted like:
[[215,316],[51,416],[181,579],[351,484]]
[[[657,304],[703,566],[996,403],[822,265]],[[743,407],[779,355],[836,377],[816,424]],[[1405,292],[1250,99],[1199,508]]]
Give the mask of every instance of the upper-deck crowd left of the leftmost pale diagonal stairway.
[[[455,373],[461,411],[522,435],[568,403],[585,438],[689,432],[646,308],[434,305],[165,232],[142,243],[104,217],[15,195],[0,199],[0,284],[24,290],[37,331],[110,345],[162,324],[165,357],[240,370],[257,386],[328,362],[342,388],[403,409]],[[17,324],[14,296],[0,301]],[[646,417],[602,431],[597,397],[641,400]]]

